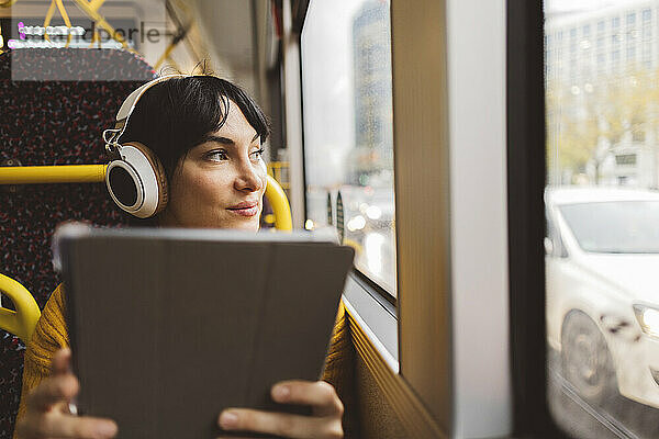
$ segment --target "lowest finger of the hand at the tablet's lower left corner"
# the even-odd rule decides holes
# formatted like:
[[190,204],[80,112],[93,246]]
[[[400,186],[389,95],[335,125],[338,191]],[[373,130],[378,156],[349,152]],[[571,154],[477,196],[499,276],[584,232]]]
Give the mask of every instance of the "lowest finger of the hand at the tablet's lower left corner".
[[110,419],[77,417],[52,413],[26,416],[16,426],[20,438],[109,439],[116,436]]

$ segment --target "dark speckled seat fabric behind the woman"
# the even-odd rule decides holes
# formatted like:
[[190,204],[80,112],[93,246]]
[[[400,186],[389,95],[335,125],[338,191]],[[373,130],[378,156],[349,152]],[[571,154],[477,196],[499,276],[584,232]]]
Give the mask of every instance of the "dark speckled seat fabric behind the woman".
[[[0,162],[103,162],[102,131],[113,125],[129,93],[154,77],[150,66],[124,50],[0,54]],[[0,187],[0,273],[25,285],[42,308],[59,283],[49,244],[56,224],[66,219],[125,223],[103,184]],[[8,302],[4,297],[3,306]],[[13,434],[24,349],[21,340],[0,330],[0,439]]]

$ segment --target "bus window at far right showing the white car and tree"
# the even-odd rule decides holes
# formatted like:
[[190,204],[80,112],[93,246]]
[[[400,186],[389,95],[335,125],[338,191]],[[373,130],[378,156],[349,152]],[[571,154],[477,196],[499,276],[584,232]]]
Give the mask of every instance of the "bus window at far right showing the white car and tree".
[[658,12],[545,1],[546,36],[594,31],[545,40],[545,203],[566,255],[545,266],[547,394],[580,438],[659,435]]

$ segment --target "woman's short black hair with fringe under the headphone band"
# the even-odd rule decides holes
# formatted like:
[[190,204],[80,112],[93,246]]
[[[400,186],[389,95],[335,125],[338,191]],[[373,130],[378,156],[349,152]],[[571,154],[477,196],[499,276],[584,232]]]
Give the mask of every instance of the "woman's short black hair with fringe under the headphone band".
[[120,143],[146,145],[171,181],[179,160],[224,125],[232,103],[263,144],[270,126],[261,109],[239,87],[206,75],[175,77],[150,87],[137,101]]

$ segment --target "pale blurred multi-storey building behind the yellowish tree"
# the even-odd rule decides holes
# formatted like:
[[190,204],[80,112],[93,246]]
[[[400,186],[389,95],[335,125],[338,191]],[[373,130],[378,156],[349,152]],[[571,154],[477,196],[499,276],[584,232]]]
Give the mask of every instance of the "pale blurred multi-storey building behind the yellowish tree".
[[[552,126],[558,123],[558,111],[573,121],[593,117],[593,112],[600,111],[597,105],[601,109],[603,104],[602,95],[612,102],[635,99],[624,87],[641,77],[654,83],[659,69],[659,0],[629,0],[588,11],[548,11],[545,26],[545,79],[548,90],[558,93],[557,101],[548,100],[550,132],[562,128]],[[606,94],[612,81],[624,91]],[[560,109],[552,108],[557,104]],[[637,125],[645,126],[647,133],[637,132],[633,121],[623,120],[621,114],[619,123],[627,131],[592,145],[591,160],[583,170],[590,183],[658,187],[659,145],[650,127],[654,122],[646,123],[657,115],[648,113],[636,116],[643,121]],[[549,181],[569,183],[559,176],[572,172],[549,168]]]

